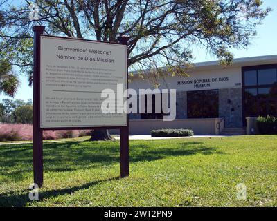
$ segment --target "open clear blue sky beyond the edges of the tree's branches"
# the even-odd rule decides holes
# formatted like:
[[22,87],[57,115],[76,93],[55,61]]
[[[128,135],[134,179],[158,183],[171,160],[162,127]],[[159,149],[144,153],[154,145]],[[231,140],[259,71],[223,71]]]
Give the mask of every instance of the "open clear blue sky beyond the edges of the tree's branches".
[[[253,57],[262,55],[277,55],[277,1],[264,0],[265,7],[271,7],[273,11],[262,22],[262,25],[257,28],[258,35],[251,41],[251,45],[247,50],[236,50],[232,52],[235,58],[238,57]],[[215,57],[206,54],[203,48],[194,48],[195,62],[212,61]],[[33,99],[33,88],[28,86],[26,76],[20,76],[21,86],[15,95],[14,99]],[[0,100],[9,98],[0,94]]]

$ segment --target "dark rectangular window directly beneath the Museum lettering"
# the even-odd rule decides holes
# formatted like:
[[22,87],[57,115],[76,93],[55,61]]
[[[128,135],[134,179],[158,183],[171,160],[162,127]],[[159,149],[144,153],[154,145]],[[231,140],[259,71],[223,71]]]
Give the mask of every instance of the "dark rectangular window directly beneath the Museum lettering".
[[218,90],[188,92],[188,118],[217,118]]

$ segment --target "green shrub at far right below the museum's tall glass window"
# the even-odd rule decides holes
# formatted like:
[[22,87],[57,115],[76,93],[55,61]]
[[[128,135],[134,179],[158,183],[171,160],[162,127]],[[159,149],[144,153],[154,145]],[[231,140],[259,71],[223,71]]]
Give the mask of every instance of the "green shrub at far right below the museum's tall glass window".
[[257,118],[257,126],[261,134],[277,134],[277,117],[269,116]]

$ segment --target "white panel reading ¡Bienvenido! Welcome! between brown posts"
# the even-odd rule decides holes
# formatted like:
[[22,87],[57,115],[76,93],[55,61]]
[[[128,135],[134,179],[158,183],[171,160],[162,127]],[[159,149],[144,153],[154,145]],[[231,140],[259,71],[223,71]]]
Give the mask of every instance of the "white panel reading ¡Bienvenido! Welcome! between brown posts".
[[42,128],[127,126],[124,111],[101,110],[102,90],[126,100],[127,46],[43,35],[40,59]]

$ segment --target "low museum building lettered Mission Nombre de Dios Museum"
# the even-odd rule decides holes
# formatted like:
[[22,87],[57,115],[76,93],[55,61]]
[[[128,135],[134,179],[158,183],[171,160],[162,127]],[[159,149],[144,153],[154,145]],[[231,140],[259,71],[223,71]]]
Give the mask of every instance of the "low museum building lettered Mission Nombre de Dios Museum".
[[[129,88],[154,89],[136,73]],[[176,119],[165,122],[162,113],[132,113],[130,134],[161,128],[188,128],[196,135],[245,134],[250,119],[277,115],[277,55],[233,59],[226,68],[218,61],[198,63],[188,77],[166,77],[159,89],[177,90]]]

